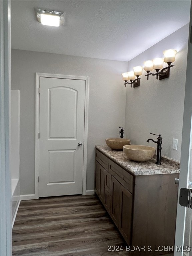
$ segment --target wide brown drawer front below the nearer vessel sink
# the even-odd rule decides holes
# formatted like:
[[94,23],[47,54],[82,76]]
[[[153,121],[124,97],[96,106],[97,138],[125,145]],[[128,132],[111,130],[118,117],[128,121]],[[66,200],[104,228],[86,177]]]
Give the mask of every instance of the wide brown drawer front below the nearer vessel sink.
[[129,192],[133,193],[133,176],[119,165],[109,160],[109,173],[116,178]]

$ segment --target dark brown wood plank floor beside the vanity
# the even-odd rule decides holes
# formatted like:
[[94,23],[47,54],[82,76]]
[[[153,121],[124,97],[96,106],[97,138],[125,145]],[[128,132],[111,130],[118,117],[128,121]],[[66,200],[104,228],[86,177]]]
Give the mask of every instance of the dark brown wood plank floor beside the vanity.
[[[123,239],[94,195],[21,201],[12,241],[15,256],[128,255]],[[109,252],[109,245],[122,245],[124,250]]]

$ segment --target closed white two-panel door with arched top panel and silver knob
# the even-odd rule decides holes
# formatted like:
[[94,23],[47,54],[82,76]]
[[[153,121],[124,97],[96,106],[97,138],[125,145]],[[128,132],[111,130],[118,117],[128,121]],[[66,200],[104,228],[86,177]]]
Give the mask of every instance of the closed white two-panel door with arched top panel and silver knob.
[[39,84],[39,197],[82,194],[85,81]]

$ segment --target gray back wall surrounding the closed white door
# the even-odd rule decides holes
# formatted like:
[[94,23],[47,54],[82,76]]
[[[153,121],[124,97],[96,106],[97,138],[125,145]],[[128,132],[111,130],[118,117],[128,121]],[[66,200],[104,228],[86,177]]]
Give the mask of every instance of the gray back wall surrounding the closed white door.
[[95,145],[124,127],[127,62],[12,50],[11,89],[20,90],[20,194],[35,192],[35,72],[89,76],[87,190],[94,189]]

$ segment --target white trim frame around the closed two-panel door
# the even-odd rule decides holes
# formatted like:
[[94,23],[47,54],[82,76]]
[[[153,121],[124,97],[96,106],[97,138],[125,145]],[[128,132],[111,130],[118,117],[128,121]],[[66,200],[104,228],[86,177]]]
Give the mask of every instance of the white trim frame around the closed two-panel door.
[[83,148],[83,195],[86,195],[87,179],[87,136],[88,136],[88,99],[89,99],[89,77],[70,76],[59,74],[36,74],[35,92],[35,199],[39,198],[39,81],[40,77],[76,79],[85,81],[85,121],[84,121],[84,148]]

